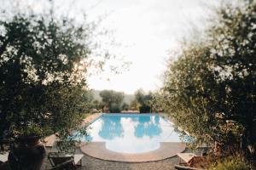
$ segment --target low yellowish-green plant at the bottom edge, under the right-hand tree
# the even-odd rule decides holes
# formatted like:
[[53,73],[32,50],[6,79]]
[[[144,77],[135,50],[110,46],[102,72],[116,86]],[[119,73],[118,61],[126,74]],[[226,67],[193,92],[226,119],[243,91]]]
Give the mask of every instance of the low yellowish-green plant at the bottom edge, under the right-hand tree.
[[228,157],[224,161],[218,161],[216,166],[212,166],[210,170],[249,170],[251,167],[247,161],[239,157]]

